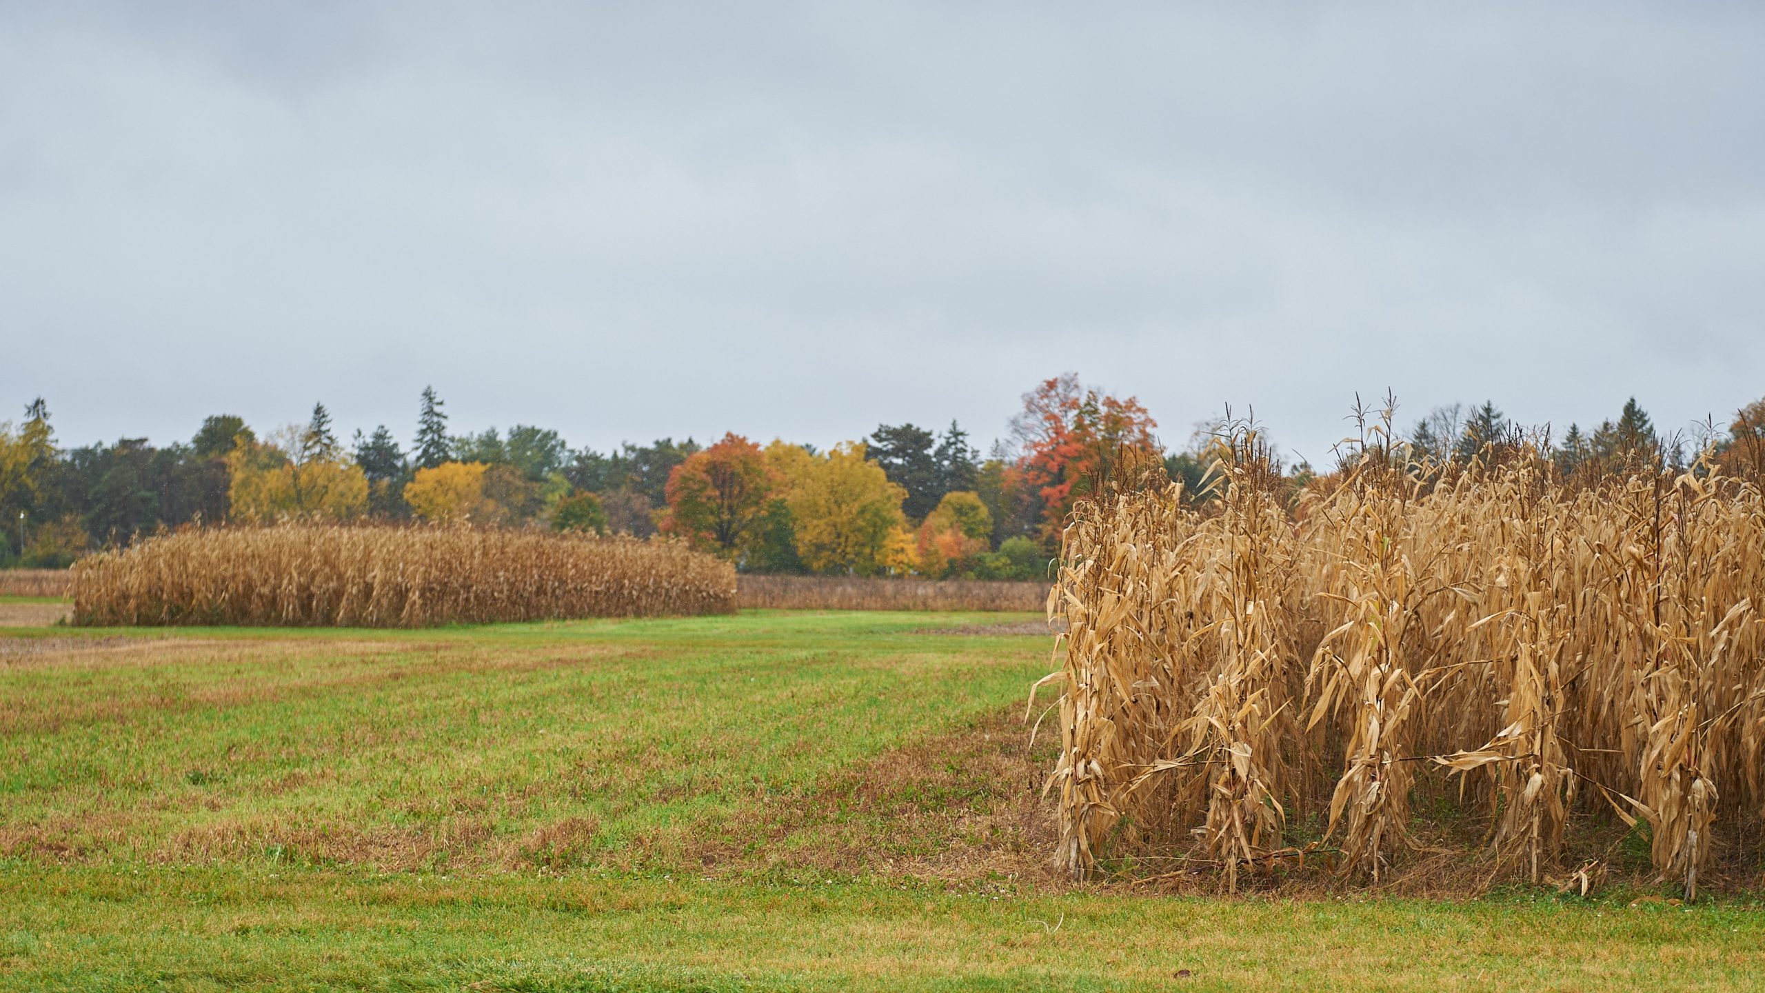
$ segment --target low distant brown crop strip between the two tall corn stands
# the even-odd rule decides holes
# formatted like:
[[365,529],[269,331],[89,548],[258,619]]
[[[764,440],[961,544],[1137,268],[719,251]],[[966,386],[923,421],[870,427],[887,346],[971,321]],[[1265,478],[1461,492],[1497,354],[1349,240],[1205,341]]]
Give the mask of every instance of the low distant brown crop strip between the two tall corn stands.
[[1040,611],[1048,583],[1008,580],[881,580],[863,576],[741,576],[743,610],[1004,610]]

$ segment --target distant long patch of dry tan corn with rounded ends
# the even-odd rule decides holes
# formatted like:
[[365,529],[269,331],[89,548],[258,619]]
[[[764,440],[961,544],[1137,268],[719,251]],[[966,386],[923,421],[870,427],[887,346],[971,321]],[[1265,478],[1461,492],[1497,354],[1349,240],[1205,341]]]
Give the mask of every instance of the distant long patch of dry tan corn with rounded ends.
[[72,569],[74,624],[422,627],[734,613],[734,569],[671,541],[277,525],[150,537]]

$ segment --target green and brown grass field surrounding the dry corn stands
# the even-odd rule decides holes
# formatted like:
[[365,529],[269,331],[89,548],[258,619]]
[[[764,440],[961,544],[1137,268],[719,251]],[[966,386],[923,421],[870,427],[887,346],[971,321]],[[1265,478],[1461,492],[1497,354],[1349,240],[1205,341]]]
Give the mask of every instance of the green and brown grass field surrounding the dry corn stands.
[[0,989],[1765,988],[1733,898],[1070,887],[1029,620],[0,629]]

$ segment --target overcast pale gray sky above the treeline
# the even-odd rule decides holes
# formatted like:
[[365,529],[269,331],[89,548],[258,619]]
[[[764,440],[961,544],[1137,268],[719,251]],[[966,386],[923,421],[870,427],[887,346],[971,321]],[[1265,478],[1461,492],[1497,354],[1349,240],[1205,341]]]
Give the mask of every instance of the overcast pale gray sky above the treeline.
[[830,443],[1765,394],[1765,7],[0,2],[0,417]]

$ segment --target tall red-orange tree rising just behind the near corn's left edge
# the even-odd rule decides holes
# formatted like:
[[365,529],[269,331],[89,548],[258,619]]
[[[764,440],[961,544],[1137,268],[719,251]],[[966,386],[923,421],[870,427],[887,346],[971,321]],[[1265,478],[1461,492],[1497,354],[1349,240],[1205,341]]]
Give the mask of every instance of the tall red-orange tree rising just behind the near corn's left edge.
[[1059,541],[1073,504],[1123,459],[1156,456],[1154,428],[1158,422],[1138,399],[1085,389],[1077,373],[1043,380],[1024,394],[1011,433],[1024,481],[1041,502],[1043,541]]

